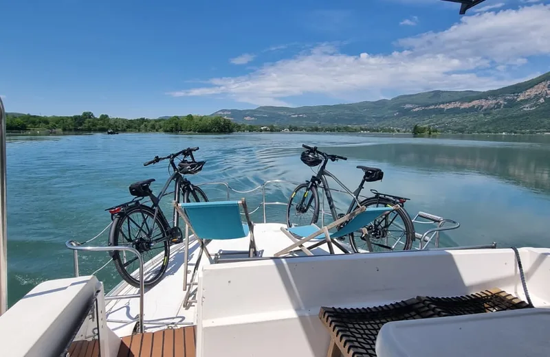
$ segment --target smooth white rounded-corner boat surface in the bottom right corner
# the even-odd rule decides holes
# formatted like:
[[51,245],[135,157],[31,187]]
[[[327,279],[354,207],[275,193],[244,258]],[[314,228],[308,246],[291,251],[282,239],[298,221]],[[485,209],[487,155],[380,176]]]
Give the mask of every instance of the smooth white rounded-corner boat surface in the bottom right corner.
[[523,309],[382,326],[378,357],[550,356],[550,310]]

